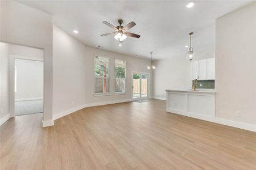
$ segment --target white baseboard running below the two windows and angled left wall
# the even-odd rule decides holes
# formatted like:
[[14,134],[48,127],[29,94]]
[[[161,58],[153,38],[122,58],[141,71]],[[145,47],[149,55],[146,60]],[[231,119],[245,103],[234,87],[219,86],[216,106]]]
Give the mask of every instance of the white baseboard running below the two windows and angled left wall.
[[99,106],[99,105],[107,105],[107,104],[115,104],[115,103],[124,103],[124,102],[129,102],[129,101],[132,101],[132,100],[131,99],[123,99],[123,100],[104,101],[104,102],[83,104],[83,105],[80,105],[78,107],[68,109],[67,111],[63,111],[63,112],[60,112],[60,113],[57,113],[57,114],[53,114],[53,120],[57,120],[58,118],[67,116],[68,114],[79,111],[83,108],[96,107],[96,106]]

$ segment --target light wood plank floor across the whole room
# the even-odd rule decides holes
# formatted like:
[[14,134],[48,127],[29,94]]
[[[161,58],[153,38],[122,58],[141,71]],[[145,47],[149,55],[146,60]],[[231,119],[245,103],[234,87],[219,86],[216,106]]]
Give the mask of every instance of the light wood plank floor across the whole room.
[[85,108],[1,130],[0,169],[256,169],[256,133],[165,112],[165,101]]

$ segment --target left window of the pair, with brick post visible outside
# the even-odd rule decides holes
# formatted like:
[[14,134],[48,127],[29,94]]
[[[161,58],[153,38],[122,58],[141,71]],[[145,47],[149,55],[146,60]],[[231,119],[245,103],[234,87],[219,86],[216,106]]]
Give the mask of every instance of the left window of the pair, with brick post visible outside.
[[94,93],[109,94],[109,58],[94,57]]

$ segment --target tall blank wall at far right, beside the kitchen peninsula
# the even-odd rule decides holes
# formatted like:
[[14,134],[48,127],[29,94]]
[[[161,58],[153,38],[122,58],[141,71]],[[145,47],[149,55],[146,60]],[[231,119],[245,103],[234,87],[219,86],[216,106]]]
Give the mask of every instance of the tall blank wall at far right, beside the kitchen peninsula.
[[[216,116],[256,125],[256,3],[216,20]],[[237,117],[236,111],[241,111]]]

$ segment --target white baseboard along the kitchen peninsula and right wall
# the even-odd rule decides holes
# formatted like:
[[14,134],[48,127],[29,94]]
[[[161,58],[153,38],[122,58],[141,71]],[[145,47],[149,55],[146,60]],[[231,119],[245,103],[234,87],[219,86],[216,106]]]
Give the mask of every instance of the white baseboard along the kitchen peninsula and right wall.
[[234,128],[239,128],[239,129],[244,129],[244,130],[249,130],[249,131],[254,131],[256,132],[256,125],[252,125],[252,124],[246,124],[243,122],[237,122],[237,121],[232,121],[232,120],[226,120],[224,118],[219,118],[219,117],[210,117],[210,116],[203,116],[203,115],[199,115],[199,114],[193,114],[193,113],[183,113],[183,112],[177,112],[174,109],[167,109],[167,112],[170,113],[175,113],[175,114],[180,114],[183,116],[188,116],[188,117],[192,117],[192,118],[197,118],[200,120],[205,120],[205,121],[209,121],[209,122],[214,122],[216,124],[221,124],[221,125],[226,125],[226,126],[232,126]]

